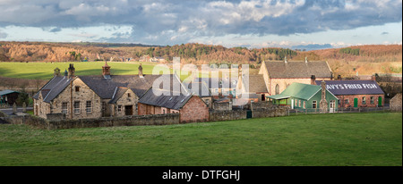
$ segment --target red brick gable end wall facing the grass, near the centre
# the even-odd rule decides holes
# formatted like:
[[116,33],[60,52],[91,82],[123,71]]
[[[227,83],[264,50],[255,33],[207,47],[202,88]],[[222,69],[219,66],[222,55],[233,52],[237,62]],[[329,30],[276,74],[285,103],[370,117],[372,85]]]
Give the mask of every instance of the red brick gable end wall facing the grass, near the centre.
[[209,121],[209,106],[199,96],[192,96],[180,110],[181,123]]

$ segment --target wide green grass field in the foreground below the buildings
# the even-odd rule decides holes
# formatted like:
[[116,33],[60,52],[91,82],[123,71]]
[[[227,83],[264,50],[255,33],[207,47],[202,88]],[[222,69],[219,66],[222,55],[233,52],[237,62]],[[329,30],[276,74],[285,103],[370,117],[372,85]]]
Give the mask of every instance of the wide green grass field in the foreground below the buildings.
[[0,165],[402,165],[402,113],[37,130],[0,124]]

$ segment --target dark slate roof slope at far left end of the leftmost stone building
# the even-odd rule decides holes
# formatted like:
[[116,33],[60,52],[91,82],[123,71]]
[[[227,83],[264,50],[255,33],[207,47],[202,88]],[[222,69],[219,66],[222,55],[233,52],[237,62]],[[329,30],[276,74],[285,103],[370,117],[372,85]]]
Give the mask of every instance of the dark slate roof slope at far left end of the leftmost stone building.
[[[74,79],[74,78],[73,78]],[[39,93],[43,97],[43,101],[50,103],[56,98],[67,86],[69,86],[72,79],[66,76],[55,76],[50,79],[45,86],[39,89],[39,92],[32,96],[35,99],[39,99]]]

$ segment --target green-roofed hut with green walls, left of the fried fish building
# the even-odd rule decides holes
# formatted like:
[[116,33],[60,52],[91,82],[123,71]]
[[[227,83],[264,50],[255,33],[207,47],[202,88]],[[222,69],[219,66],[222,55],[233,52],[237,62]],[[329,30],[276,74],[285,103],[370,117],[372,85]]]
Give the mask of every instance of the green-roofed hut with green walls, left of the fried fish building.
[[[325,85],[326,86],[326,85]],[[327,111],[338,110],[339,99],[328,89],[324,88],[327,102]],[[273,104],[289,105],[291,109],[305,109],[307,111],[319,111],[322,100],[322,87],[316,85],[293,83],[282,93],[275,96],[267,96]]]

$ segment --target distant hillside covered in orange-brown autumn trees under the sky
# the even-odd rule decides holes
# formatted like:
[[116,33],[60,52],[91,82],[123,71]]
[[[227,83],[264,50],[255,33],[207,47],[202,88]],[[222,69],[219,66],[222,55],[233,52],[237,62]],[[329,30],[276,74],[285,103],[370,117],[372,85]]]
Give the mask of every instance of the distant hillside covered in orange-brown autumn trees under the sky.
[[287,48],[253,48],[182,44],[144,46],[140,44],[0,42],[0,62],[74,62],[119,61],[143,56],[163,57],[171,62],[181,57],[183,63],[249,63],[259,65],[268,60],[324,60],[335,74],[342,76],[373,73],[401,73],[402,46],[374,45],[295,51]]

